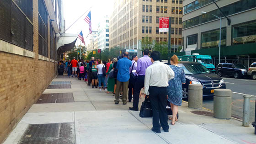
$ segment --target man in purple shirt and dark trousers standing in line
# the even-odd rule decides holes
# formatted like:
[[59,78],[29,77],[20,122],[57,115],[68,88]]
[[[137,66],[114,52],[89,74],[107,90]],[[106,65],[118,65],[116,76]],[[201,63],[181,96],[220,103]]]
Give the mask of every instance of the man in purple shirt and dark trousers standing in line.
[[136,73],[138,75],[133,92],[133,107],[130,110],[139,111],[139,92],[144,87],[146,69],[152,64],[149,58],[149,49],[144,49],[143,57],[138,59]]

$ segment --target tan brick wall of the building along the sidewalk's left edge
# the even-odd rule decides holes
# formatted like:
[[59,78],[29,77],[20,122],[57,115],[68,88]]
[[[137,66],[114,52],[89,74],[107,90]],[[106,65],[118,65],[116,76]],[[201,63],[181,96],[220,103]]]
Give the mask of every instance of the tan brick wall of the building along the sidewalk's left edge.
[[0,39],[0,143],[55,77],[57,64],[50,59],[49,27],[48,22],[46,58],[38,54],[38,2],[33,0],[33,52]]

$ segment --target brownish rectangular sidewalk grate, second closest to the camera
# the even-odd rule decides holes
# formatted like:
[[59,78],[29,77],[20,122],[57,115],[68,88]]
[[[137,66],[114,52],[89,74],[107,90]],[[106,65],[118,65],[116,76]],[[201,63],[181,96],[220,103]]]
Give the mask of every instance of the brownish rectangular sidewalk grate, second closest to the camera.
[[37,103],[63,103],[63,102],[75,102],[73,93],[43,94],[37,101]]

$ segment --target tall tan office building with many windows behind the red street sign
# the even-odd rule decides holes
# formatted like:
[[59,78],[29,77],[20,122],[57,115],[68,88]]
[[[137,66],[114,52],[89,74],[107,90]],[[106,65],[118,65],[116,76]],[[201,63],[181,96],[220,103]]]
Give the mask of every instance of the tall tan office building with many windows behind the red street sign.
[[139,41],[145,38],[167,42],[168,32],[159,32],[159,18],[170,16],[171,45],[181,45],[182,0],[115,0],[110,48],[140,49]]

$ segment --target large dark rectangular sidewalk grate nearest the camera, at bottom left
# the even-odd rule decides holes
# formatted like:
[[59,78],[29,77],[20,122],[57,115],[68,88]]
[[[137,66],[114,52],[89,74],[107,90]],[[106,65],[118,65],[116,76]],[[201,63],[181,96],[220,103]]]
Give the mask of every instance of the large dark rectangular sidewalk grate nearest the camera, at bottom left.
[[19,144],[75,144],[74,123],[30,124]]

